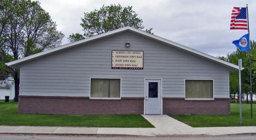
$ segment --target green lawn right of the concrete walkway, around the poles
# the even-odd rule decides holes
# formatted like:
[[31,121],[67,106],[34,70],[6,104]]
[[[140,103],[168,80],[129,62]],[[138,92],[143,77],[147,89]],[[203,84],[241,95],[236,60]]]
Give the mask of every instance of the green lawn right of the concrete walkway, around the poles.
[[242,103],[242,125],[240,125],[239,103],[231,103],[230,115],[170,115],[192,127],[214,126],[256,126],[256,104],[253,103],[253,119],[251,119],[251,105]]

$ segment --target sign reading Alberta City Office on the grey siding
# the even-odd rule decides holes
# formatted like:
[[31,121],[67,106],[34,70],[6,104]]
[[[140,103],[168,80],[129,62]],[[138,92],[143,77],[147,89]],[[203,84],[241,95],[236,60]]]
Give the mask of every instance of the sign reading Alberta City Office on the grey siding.
[[113,69],[143,69],[143,51],[112,50]]

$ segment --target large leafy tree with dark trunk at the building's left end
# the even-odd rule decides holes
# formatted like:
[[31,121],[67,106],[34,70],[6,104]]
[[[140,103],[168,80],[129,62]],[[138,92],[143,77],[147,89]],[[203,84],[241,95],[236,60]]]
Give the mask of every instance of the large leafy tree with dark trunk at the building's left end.
[[[19,95],[19,69],[7,67],[6,62],[55,48],[64,35],[38,1],[2,0],[0,3],[1,72],[11,75],[15,83],[15,101]],[[8,11],[8,12],[7,12]],[[8,13],[7,18],[4,16]]]

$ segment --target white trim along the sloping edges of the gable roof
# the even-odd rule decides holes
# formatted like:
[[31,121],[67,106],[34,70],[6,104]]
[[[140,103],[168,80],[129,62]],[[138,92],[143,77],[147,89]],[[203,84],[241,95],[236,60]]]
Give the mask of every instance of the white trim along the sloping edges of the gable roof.
[[33,59],[37,59],[37,58],[39,58],[39,57],[42,57],[42,56],[45,56],[45,55],[48,55],[48,54],[56,53],[56,52],[61,51],[61,50],[65,50],[65,49],[68,49],[68,48],[72,48],[72,47],[74,47],[74,46],[81,45],[81,44],[84,44],[84,43],[92,42],[92,41],[97,40],[97,39],[101,39],[101,38],[105,38],[105,37],[108,37],[108,36],[112,36],[112,35],[114,35],[114,34],[117,34],[117,33],[120,33],[120,32],[124,32],[124,31],[131,31],[131,32],[140,34],[140,35],[142,35],[142,36],[145,36],[145,37],[147,37],[147,38],[156,40],[156,41],[158,41],[158,42],[165,43],[165,44],[167,44],[167,45],[171,45],[171,46],[173,46],[174,48],[181,49],[181,50],[187,51],[188,53],[195,54],[195,55],[200,56],[200,57],[203,57],[203,58],[205,58],[205,59],[208,59],[208,60],[217,62],[217,63],[219,63],[220,65],[227,66],[227,67],[229,67],[229,68],[231,68],[231,69],[234,69],[234,70],[237,70],[237,69],[238,69],[238,66],[237,66],[237,65],[234,65],[234,64],[232,64],[232,63],[229,63],[229,62],[226,62],[226,61],[217,59],[216,57],[213,57],[213,56],[211,56],[211,55],[202,53],[202,52],[200,52],[200,51],[191,49],[191,48],[189,48],[189,47],[187,47],[187,46],[184,46],[184,45],[181,45],[181,44],[172,42],[172,41],[170,41],[170,40],[167,40],[167,39],[164,39],[164,38],[155,36],[154,34],[150,34],[150,33],[147,33],[147,32],[144,32],[144,31],[141,31],[141,30],[138,30],[138,29],[136,29],[136,28],[129,27],[129,26],[123,27],[123,28],[119,28],[119,29],[117,29],[117,30],[110,31],[110,32],[107,32],[107,33],[98,34],[97,36],[93,36],[93,37],[90,37],[90,38],[86,38],[86,39],[83,39],[83,40],[79,40],[78,42],[73,42],[73,43],[65,44],[65,45],[59,46],[59,47],[54,48],[54,49],[50,49],[50,50],[43,51],[43,52],[38,53],[38,54],[34,54],[34,55],[31,55],[31,56],[24,57],[24,58],[19,59],[19,60],[11,61],[11,62],[6,63],[6,65],[7,65],[7,66],[17,66],[17,65],[19,65],[20,63],[24,63],[24,62],[26,62],[26,61],[30,61],[30,60],[33,60]]

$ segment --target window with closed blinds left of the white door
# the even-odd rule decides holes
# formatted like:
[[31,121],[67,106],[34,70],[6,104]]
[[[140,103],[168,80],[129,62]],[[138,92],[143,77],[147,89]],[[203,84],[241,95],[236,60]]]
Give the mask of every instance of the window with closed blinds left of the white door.
[[120,98],[120,79],[91,78],[92,98]]

